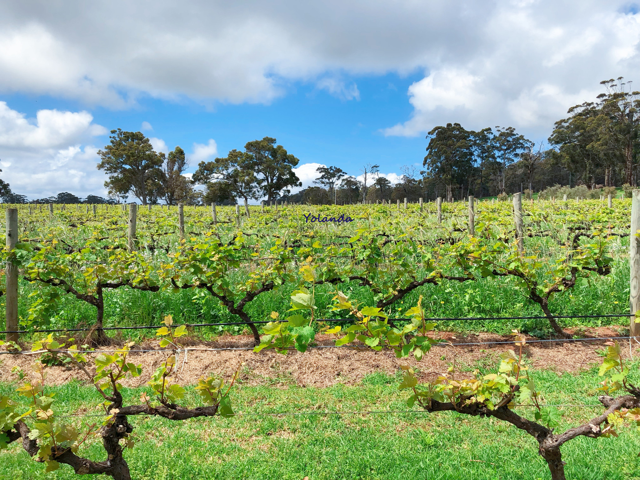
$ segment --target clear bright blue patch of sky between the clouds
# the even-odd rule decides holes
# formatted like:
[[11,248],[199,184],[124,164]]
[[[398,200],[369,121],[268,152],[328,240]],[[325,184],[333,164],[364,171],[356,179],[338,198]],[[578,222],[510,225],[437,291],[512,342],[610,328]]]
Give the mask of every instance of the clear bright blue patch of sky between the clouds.
[[[289,84],[285,95],[269,104],[204,105],[190,99],[161,100],[145,95],[136,99],[132,108],[113,110],[108,106],[87,108],[81,101],[51,96],[14,94],[0,99],[30,118],[40,109],[88,110],[93,122],[108,130],[143,131],[150,138],[161,138],[170,149],[180,145],[187,152],[193,150],[193,143],[206,144],[213,139],[219,156],[224,156],[247,141],[271,136],[298,157],[300,164],[337,165],[358,175],[365,163],[380,164],[384,173],[399,172],[398,167],[404,164],[422,165],[427,143],[424,134],[399,137],[383,132],[411,115],[407,89],[422,77],[422,72],[403,77],[353,77],[349,84],[357,87],[359,95],[351,99],[314,84]],[[142,129],[143,122],[153,129]],[[104,134],[95,136],[93,143],[102,147],[108,140]],[[195,168],[192,162],[188,172]]]

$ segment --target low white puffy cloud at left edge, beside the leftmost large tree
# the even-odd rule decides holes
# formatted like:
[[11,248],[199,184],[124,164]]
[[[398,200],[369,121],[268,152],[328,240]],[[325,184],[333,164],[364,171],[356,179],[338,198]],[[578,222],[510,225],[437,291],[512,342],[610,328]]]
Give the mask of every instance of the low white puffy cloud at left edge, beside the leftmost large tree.
[[29,198],[71,191],[104,195],[106,175],[95,168],[97,148],[83,143],[107,133],[86,111],[40,110],[26,116],[0,102],[2,178]]

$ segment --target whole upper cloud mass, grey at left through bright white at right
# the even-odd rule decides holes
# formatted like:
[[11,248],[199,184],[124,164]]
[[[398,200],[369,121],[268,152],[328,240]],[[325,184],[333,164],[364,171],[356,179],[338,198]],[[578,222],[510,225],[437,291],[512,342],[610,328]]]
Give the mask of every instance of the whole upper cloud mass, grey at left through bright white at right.
[[412,115],[384,134],[460,122],[546,136],[602,79],[640,78],[637,11],[626,0],[4,2],[0,92],[127,108],[139,95],[268,103],[306,82],[358,100],[355,76],[424,72],[407,90]]

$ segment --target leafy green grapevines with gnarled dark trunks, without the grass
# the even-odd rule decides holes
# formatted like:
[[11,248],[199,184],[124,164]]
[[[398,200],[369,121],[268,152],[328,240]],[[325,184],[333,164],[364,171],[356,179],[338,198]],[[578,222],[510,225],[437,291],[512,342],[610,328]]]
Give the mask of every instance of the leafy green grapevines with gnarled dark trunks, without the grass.
[[[467,205],[444,204],[442,220],[435,204],[398,209],[395,205],[348,207],[252,207],[238,221],[232,207],[218,207],[214,222],[205,207],[185,208],[185,232],[180,234],[177,211],[158,206],[138,211],[135,248],[127,249],[127,212],[101,206],[93,212],[68,207],[19,213],[19,243],[3,252],[3,260],[18,266],[20,281],[29,287],[28,308],[20,317],[24,339],[33,340],[29,355],[61,355],[86,374],[104,400],[104,418],[79,428],[56,416],[54,397],[46,388],[46,366],[35,362],[31,372],[16,371],[23,380],[21,401],[0,399],[0,448],[20,441],[47,471],[60,464],[78,474],[107,474],[131,478],[124,449],[133,447],[132,415],[159,415],[184,420],[233,415],[229,392],[234,378],[201,378],[196,389],[202,405],[182,406],[184,394],[175,381],[175,353],[186,334],[184,325],[164,318],[156,332],[166,358],[148,382],[139,404],[125,405],[120,381],[140,376],[141,367],[129,361],[130,344],[105,349],[111,339],[103,329],[106,291],[137,289],[150,292],[204,292],[220,302],[253,333],[254,351],[273,349],[286,354],[307,351],[318,332],[333,335],[335,346],[356,350],[390,349],[398,358],[420,361],[440,342],[431,333],[436,324],[422,297],[394,318],[397,305],[410,292],[446,282],[477,282],[502,278],[537,305],[558,339],[569,339],[554,316],[554,300],[611,274],[612,255],[628,237],[629,200],[614,200],[612,208],[595,200],[585,202],[531,202],[524,205],[524,252],[518,250],[513,212],[506,202],[476,205],[474,234],[470,235]],[[340,218],[351,217],[345,223]],[[315,222],[309,221],[316,218]],[[239,224],[239,226],[238,226]],[[356,284],[371,292],[371,304],[351,300],[345,287]],[[347,324],[332,326],[316,315],[316,287],[332,291],[332,312]],[[277,289],[291,292],[291,308],[269,318],[252,318],[247,306]],[[95,307],[95,319],[77,339],[38,333],[50,326],[52,312],[64,297]],[[394,308],[396,307],[396,308]],[[268,321],[268,323],[266,323]],[[258,323],[260,322],[260,323]],[[262,326],[260,335],[259,324]],[[560,447],[577,436],[615,436],[625,425],[640,425],[640,389],[625,365],[618,342],[608,345],[600,367],[606,377],[600,403],[602,415],[564,433],[556,433],[557,409],[544,406],[522,362],[527,340],[519,332],[515,349],[502,355],[495,374],[468,377],[452,369],[450,375],[420,384],[409,367],[399,388],[407,403],[428,412],[454,411],[494,417],[526,431],[538,442],[553,479],[564,478]],[[24,355],[16,342],[8,351]],[[453,345],[451,345],[453,348]],[[104,351],[100,351],[104,350]],[[20,353],[18,353],[20,352]],[[622,396],[612,396],[622,392]],[[528,419],[513,406],[534,405]],[[105,461],[79,456],[86,442],[99,439]],[[122,441],[122,442],[121,442]]]

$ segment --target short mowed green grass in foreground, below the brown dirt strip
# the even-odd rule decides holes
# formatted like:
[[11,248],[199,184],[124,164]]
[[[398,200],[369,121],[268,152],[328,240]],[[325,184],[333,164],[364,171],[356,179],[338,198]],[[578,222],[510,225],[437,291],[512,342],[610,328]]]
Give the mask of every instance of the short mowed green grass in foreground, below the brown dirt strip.
[[[638,365],[635,365],[637,368]],[[579,375],[538,371],[532,375],[548,404],[597,404],[602,378],[595,369]],[[285,388],[234,386],[237,413],[363,412],[408,410],[398,378],[375,373],[355,386]],[[15,383],[0,384],[0,394],[15,396]],[[78,382],[56,390],[56,412],[98,413],[92,388]],[[136,402],[140,389],[124,389],[125,403]],[[184,404],[198,404],[188,388]],[[413,410],[418,410],[413,409]],[[561,407],[557,431],[580,424],[602,408]],[[532,417],[531,408],[517,412]],[[69,419],[71,420],[71,419]],[[83,422],[99,422],[86,418]],[[78,422],[79,420],[75,420]],[[458,413],[341,413],[339,415],[239,415],[175,422],[130,417],[136,445],[125,452],[132,478],[182,479],[548,479],[536,442],[526,433],[495,419]],[[562,447],[570,479],[640,478],[640,435],[577,438]],[[79,452],[104,460],[99,444]],[[72,479],[70,467],[45,474],[17,445],[0,452],[2,479]],[[106,478],[106,477],[93,477]]]

